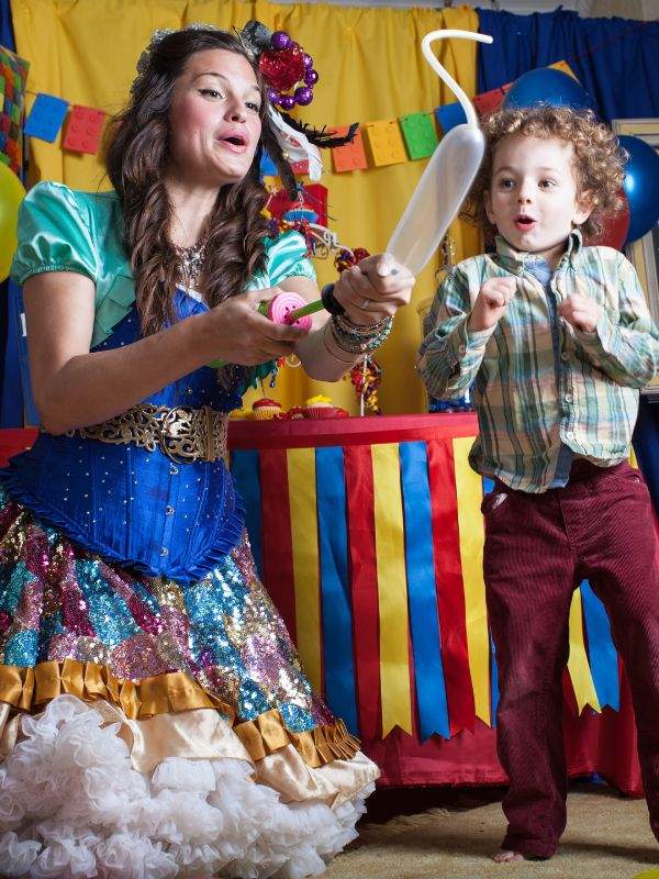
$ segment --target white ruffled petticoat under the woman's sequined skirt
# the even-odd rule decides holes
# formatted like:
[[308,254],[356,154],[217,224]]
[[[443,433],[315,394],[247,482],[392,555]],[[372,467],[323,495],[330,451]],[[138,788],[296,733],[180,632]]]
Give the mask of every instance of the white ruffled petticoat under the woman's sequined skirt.
[[[21,719],[0,766],[0,875],[32,879],[303,879],[357,836],[372,781],[331,808],[284,803],[248,760],[133,768],[120,723],[59,696]],[[362,758],[365,759],[365,758]]]

